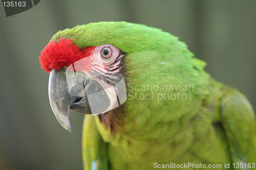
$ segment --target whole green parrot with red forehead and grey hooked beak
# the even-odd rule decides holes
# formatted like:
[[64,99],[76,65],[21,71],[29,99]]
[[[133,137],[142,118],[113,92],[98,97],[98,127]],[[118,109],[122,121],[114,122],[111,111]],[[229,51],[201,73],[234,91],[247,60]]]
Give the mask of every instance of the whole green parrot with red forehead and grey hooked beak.
[[57,32],[41,51],[58,122],[86,114],[84,169],[256,169],[246,96],[160,29],[97,22]]

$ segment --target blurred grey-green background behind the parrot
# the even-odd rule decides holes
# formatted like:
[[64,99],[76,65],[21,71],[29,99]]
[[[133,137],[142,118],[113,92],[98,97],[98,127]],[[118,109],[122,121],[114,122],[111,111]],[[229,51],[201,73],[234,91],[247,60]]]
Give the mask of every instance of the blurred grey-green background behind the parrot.
[[240,89],[256,108],[256,1],[41,1],[6,17],[0,4],[0,170],[82,169],[83,115],[63,129],[38,56],[59,30],[129,21],[180,37],[206,71]]

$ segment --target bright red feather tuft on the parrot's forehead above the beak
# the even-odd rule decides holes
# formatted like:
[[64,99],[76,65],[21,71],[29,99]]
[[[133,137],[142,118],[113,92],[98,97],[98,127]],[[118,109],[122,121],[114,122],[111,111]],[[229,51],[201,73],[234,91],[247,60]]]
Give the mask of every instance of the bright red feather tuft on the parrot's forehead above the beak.
[[39,56],[41,68],[49,73],[51,69],[59,70],[65,66],[68,67],[84,57],[91,56],[94,49],[95,46],[80,50],[72,43],[72,39],[61,38],[58,43],[49,42]]

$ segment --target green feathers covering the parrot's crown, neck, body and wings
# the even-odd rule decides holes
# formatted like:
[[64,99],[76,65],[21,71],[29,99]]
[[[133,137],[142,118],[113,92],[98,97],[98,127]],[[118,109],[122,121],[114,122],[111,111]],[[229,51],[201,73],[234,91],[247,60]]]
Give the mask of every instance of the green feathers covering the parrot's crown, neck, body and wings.
[[206,63],[177,37],[134,23],[98,22],[60,31],[51,40],[60,38],[71,38],[80,48],[108,43],[126,53],[127,100],[108,113],[115,115],[114,125],[105,126],[98,116],[84,119],[84,169],[154,169],[154,163],[226,169],[225,163],[230,168],[256,163],[255,117],[248,100],[210,78]]

